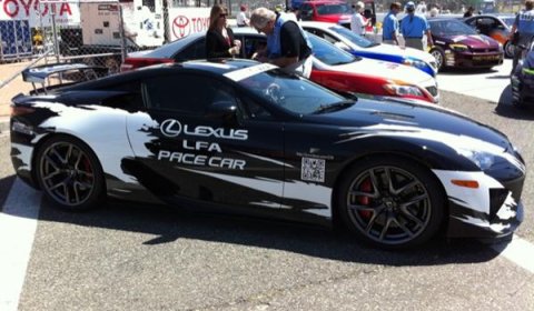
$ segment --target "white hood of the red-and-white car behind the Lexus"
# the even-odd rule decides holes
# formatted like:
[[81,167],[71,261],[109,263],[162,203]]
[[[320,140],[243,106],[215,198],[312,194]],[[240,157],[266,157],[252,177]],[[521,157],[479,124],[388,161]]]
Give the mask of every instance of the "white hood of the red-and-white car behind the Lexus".
[[340,71],[382,78],[384,80],[396,80],[404,83],[417,86],[435,86],[435,80],[425,72],[400,63],[362,58],[345,64],[328,66],[318,59],[314,59],[314,68],[318,70]]

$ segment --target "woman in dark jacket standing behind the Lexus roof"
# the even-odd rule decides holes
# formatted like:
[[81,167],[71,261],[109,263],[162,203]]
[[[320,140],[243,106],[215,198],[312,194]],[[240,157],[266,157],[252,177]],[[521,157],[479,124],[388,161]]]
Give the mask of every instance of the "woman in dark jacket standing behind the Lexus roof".
[[226,26],[226,7],[215,4],[209,14],[206,33],[206,58],[229,58],[239,54],[241,42],[234,40],[234,32]]

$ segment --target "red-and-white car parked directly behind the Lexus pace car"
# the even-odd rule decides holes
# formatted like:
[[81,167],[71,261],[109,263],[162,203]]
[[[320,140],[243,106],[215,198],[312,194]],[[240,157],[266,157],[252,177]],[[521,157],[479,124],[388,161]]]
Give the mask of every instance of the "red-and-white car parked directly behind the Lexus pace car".
[[[128,57],[123,70],[154,63],[180,62],[206,58],[205,33],[194,33],[160,47],[149,53]],[[266,44],[266,37],[251,28],[234,29],[241,40],[240,58],[250,58]],[[436,80],[425,72],[398,63],[354,57],[334,44],[309,34],[314,46],[314,68],[310,80],[338,92],[395,97],[437,103],[439,92]]]

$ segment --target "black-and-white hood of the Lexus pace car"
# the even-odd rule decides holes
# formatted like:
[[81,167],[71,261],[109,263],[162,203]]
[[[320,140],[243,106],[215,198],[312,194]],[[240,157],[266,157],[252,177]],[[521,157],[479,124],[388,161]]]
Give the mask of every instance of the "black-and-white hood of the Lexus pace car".
[[469,144],[479,143],[482,150],[493,148],[497,153],[513,148],[497,130],[458,112],[429,104],[358,99],[348,109],[309,118],[320,118],[322,122],[346,128],[353,133],[363,130],[368,131],[364,134],[379,132],[382,136],[413,137],[451,144],[464,142],[466,148],[478,148],[478,144]]

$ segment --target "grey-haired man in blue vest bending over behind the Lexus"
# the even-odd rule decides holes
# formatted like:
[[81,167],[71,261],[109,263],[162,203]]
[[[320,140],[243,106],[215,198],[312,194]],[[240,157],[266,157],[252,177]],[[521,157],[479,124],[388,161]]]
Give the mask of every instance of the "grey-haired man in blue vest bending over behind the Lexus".
[[255,57],[257,60],[309,78],[312,43],[294,14],[258,8],[250,16],[250,26],[267,34],[267,47]]

